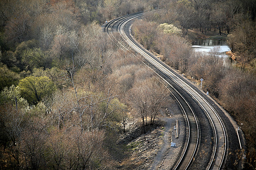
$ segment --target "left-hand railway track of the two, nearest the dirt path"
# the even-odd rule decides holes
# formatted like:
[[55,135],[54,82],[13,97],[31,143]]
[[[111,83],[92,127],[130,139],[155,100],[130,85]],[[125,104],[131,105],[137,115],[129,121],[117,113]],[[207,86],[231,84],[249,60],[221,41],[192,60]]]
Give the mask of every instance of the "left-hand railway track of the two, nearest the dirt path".
[[[141,16],[141,14],[138,14],[138,15],[135,15],[135,16],[133,16],[132,18],[137,18],[137,17],[139,17],[139,16]],[[120,19],[121,20],[121,19]],[[117,21],[116,21],[117,22]],[[115,22],[115,23],[116,23]],[[113,25],[112,25],[113,26]],[[112,26],[111,26],[111,28],[112,28]],[[120,24],[119,24],[119,26],[120,26]],[[118,30],[119,30],[119,27],[118,26]],[[110,28],[110,32],[111,32],[111,34],[112,34],[112,29]],[[107,29],[106,29],[107,30]],[[119,31],[119,33],[120,33],[120,31]],[[109,36],[109,34],[108,34],[108,36]],[[113,36],[113,34],[112,34],[112,36]],[[122,35],[121,35],[122,36]],[[113,36],[114,37],[114,36]],[[110,36],[109,36],[109,38],[111,38]],[[115,37],[114,37],[115,38]],[[120,43],[121,44],[121,43]],[[122,45],[122,44],[121,44]],[[123,45],[122,45],[123,46]],[[124,47],[124,46],[123,46]],[[125,47],[124,47],[125,48]],[[126,48],[127,49],[127,48]],[[127,49],[128,50],[128,49]],[[143,62],[144,63],[144,62]],[[145,63],[144,63],[145,64]],[[149,67],[150,68],[150,67]],[[151,69],[151,68],[150,68]],[[151,70],[153,70],[153,69],[151,69]],[[154,71],[154,70],[153,70]],[[155,71],[154,71],[155,72]],[[156,73],[156,72],[155,72]],[[180,103],[180,100],[181,99],[177,99],[177,97],[176,97],[176,95],[174,95],[173,94],[173,92],[171,92],[169,89],[169,91],[172,93],[172,95],[174,96],[174,98],[178,101],[178,103],[180,104],[180,107],[182,108],[182,110],[183,110],[183,112],[184,112],[184,114],[185,114],[185,116],[186,116],[186,119],[187,119],[187,123],[188,123],[188,140],[187,140],[187,144],[186,144],[186,148],[185,148],[185,150],[183,151],[184,153],[183,153],[183,155],[182,155],[182,157],[181,157],[181,159],[180,159],[180,162],[178,163],[178,165],[176,166],[176,168],[175,169],[177,169],[178,167],[180,168],[180,169],[187,169],[188,167],[189,167],[189,165],[190,165],[190,163],[191,163],[191,161],[192,161],[192,159],[193,159],[193,157],[194,157],[194,155],[195,155],[195,152],[196,152],[196,149],[197,149],[197,146],[198,146],[198,140],[199,140],[199,125],[198,125],[198,122],[197,122],[197,120],[196,120],[196,116],[195,116],[195,114],[193,113],[193,110],[191,109],[191,107],[189,106],[189,104],[188,104],[188,102],[183,98],[183,96],[182,95],[180,95],[180,93],[168,82],[168,81],[166,81],[162,76],[160,76],[158,73],[156,73],[160,78],[162,78],[168,85],[170,85],[171,87],[172,87],[172,89],[174,89],[175,91],[176,91],[176,93],[183,99],[183,101],[186,103],[186,105],[187,105],[187,107],[189,107],[189,109],[190,109],[190,111],[191,111],[191,113],[192,113],[192,115],[193,115],[193,118],[191,118],[191,116],[190,116],[190,118],[188,118],[188,115],[187,115],[187,113],[186,113],[186,111],[185,111],[185,109],[184,109],[184,104],[182,105],[181,103]],[[188,110],[187,110],[187,112],[188,112]],[[190,121],[189,121],[189,120]],[[192,120],[192,121],[191,121]],[[195,124],[196,124],[196,128],[194,127],[194,132],[192,133],[194,136],[196,136],[196,144],[194,144],[194,145],[192,145],[192,142],[191,142],[191,138],[190,138],[190,134],[191,134],[191,130],[190,130],[190,124],[191,124],[191,122],[195,122]],[[193,123],[192,123],[193,124]],[[194,125],[195,126],[195,125]],[[195,129],[196,129],[196,132],[195,132]],[[194,137],[195,138],[195,137]],[[183,160],[185,160],[186,158],[185,158],[185,155],[187,155],[189,152],[188,152],[188,147],[189,147],[189,145],[190,145],[190,148],[193,148],[193,150],[192,150],[192,152],[193,152],[193,154],[192,154],[192,156],[190,155],[190,157],[189,157],[189,160],[187,160],[186,161],[186,163],[184,164],[184,161]],[[183,165],[182,165],[182,163],[183,163]]]

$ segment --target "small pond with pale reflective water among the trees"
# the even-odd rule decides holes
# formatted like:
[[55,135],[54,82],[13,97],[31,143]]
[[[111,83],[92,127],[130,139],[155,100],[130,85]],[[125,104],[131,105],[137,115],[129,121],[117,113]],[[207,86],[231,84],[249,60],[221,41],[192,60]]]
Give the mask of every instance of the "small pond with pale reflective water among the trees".
[[223,58],[225,63],[235,63],[235,61],[233,61],[230,56],[226,54],[226,52],[230,51],[230,49],[225,40],[209,40],[198,38],[193,42],[192,47],[195,51],[206,53],[210,52],[214,47],[217,47],[220,51],[220,57]]

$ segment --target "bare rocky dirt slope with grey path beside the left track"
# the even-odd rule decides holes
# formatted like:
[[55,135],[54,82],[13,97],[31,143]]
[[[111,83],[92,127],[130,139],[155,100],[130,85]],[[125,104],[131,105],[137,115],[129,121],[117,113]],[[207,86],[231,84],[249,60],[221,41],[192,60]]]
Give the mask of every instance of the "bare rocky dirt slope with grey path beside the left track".
[[[179,151],[183,150],[186,137],[186,124],[180,108],[173,102],[166,110],[156,117],[154,125],[147,126],[147,133],[143,134],[140,121],[130,122],[125,134],[121,134],[118,143],[119,154],[116,155],[115,169],[167,169],[176,163]],[[179,120],[179,138],[175,138],[175,120]],[[171,142],[176,147],[171,147]]]

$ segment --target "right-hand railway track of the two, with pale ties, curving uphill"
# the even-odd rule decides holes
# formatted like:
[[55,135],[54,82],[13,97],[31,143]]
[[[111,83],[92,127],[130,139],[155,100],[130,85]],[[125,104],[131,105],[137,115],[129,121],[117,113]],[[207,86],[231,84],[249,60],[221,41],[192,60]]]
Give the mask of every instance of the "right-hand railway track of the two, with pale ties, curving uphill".
[[[139,16],[138,16],[139,17]],[[133,17],[134,18],[134,17]],[[131,18],[131,19],[126,19],[126,20],[128,20],[125,24],[124,24],[124,26],[123,26],[123,33],[124,33],[124,35],[126,36],[126,38],[127,38],[127,40],[128,41],[130,41],[134,46],[136,46],[131,40],[129,40],[129,38],[128,38],[128,36],[125,34],[125,32],[124,32],[124,27],[125,27],[125,25],[130,21],[130,20],[132,20],[133,18]],[[123,23],[124,23],[125,21],[123,21]],[[120,33],[120,26],[121,26],[121,24],[119,25],[119,33]],[[120,33],[121,34],[121,33]],[[121,34],[121,36],[122,36],[122,34]],[[123,36],[122,36],[123,37]],[[123,37],[123,39],[125,40],[125,38]],[[127,40],[125,40],[126,42],[127,42]],[[128,42],[127,42],[128,43]],[[128,43],[129,44],[129,43]],[[130,44],[129,44],[130,45]],[[130,45],[131,46],[131,45]],[[131,46],[132,47],[132,46]],[[138,53],[140,53],[141,54],[141,52],[139,52],[138,50],[136,50],[134,47],[132,47],[135,51],[137,51]],[[138,47],[137,47],[138,48]],[[150,57],[152,60],[154,60],[154,61],[156,61],[159,65],[161,65],[163,68],[165,68],[159,61],[157,61],[156,59],[154,59],[153,57],[151,57],[150,55],[148,55],[147,53],[145,53],[143,50],[141,50],[142,51],[142,53],[144,53],[144,54],[146,54],[148,57]],[[142,54],[143,55],[143,54]],[[145,57],[145,56],[144,56]],[[148,59],[147,59],[148,60]],[[148,60],[149,61],[149,60]],[[150,61],[149,61],[150,62]],[[152,63],[152,62],[150,62],[150,63]],[[153,65],[155,65],[155,63],[152,63]],[[156,65],[155,65],[156,66]],[[156,67],[158,67],[158,66],[156,66]],[[162,70],[161,68],[159,68],[158,67],[158,69],[159,70]],[[165,68],[166,69],[166,68]],[[174,78],[172,78],[171,76],[169,76],[170,78],[172,78],[172,80],[174,80],[178,85],[180,85],[184,90],[186,90],[199,104],[200,104],[200,106],[204,109],[204,111],[207,113],[207,115],[208,115],[208,117],[210,118],[210,120],[211,120],[211,122],[212,122],[212,126],[213,126],[213,128],[214,128],[214,131],[215,131],[215,149],[214,149],[214,154],[213,154],[213,156],[212,156],[212,161],[211,161],[211,163],[210,164],[208,164],[208,169],[220,169],[221,168],[221,166],[222,166],[222,164],[223,164],[223,161],[224,161],[224,158],[225,158],[225,153],[226,153],[226,147],[227,147],[227,140],[226,140],[226,132],[225,132],[225,129],[224,129],[224,126],[223,126],[223,124],[222,124],[222,122],[221,122],[221,120],[220,120],[220,117],[219,117],[219,115],[215,112],[215,110],[210,106],[210,104],[200,95],[200,94],[198,94],[193,88],[191,88],[187,83],[185,83],[183,80],[181,80],[180,78],[178,78],[176,75],[174,75],[170,70],[168,70],[168,69],[166,69],[167,70],[167,72],[169,72],[169,73],[171,73],[173,76],[175,76],[178,80],[180,80],[184,85],[186,85],[187,87],[189,87],[197,96],[199,96],[203,101],[204,101],[204,103],[206,104],[206,105],[208,105],[208,107],[213,111],[213,113],[216,115],[216,117],[217,117],[217,119],[218,119],[218,121],[220,122],[220,125],[221,125],[221,127],[222,127],[222,132],[223,132],[223,135],[224,135],[224,142],[223,142],[223,145],[225,145],[225,149],[224,149],[224,153],[222,154],[222,158],[218,158],[218,159],[221,159],[221,162],[219,163],[219,165],[216,165],[216,160],[217,159],[215,159],[215,154],[216,154],[216,151],[217,151],[217,149],[220,149],[220,147],[223,147],[223,145],[222,146],[218,146],[217,147],[217,144],[218,144],[218,140],[220,140],[221,139],[221,137],[217,137],[217,133],[216,133],[216,128],[215,128],[215,125],[214,125],[214,123],[213,123],[213,121],[212,121],[212,118],[211,118],[211,116],[209,115],[209,113],[207,112],[207,109],[205,109],[205,107],[203,106],[203,104],[201,104],[201,102],[199,102],[198,101],[198,99],[194,96],[194,95],[192,95],[191,94],[191,92],[189,92],[183,85],[181,85],[177,80],[175,80]],[[162,70],[163,72],[165,72],[164,70]],[[215,121],[216,122],[216,121]],[[219,134],[221,133],[221,135],[220,136],[222,136],[222,132],[219,132]],[[219,136],[219,134],[218,134],[218,136]],[[224,144],[225,143],[225,144]],[[213,160],[215,159],[215,164],[214,164],[214,166],[212,167],[212,163],[213,163]],[[217,166],[217,167],[216,167]]]

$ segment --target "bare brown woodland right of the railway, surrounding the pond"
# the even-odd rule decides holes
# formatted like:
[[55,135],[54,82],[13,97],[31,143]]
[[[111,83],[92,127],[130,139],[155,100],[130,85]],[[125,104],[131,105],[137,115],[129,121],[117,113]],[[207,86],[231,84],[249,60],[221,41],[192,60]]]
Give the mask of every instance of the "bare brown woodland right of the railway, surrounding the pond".
[[[192,81],[204,79],[202,89],[241,125],[247,142],[248,169],[255,168],[256,148],[256,1],[173,1],[166,10],[138,19],[133,36],[161,60]],[[218,48],[209,54],[191,48],[198,34],[225,38],[235,65],[220,58]],[[224,35],[224,36],[223,36]]]

